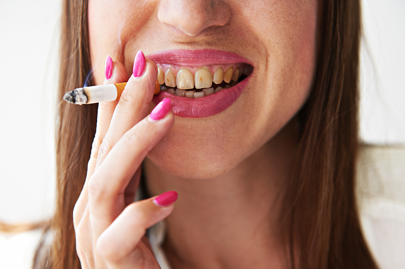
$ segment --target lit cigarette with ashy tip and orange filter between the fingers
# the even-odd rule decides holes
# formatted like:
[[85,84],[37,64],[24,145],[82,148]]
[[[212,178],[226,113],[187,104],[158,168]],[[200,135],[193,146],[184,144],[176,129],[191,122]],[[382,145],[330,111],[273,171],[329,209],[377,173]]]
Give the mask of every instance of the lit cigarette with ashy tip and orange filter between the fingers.
[[[121,97],[125,85],[126,82],[77,88],[65,93],[63,100],[77,105],[114,101]],[[158,94],[159,92],[160,85],[156,81],[153,94]]]

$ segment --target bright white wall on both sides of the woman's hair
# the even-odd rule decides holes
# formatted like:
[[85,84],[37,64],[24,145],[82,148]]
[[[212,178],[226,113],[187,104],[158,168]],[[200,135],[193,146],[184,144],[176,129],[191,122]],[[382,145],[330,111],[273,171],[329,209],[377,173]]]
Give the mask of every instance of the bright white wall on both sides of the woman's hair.
[[[405,144],[405,1],[363,0],[361,139]],[[60,2],[0,2],[0,220],[51,216]]]

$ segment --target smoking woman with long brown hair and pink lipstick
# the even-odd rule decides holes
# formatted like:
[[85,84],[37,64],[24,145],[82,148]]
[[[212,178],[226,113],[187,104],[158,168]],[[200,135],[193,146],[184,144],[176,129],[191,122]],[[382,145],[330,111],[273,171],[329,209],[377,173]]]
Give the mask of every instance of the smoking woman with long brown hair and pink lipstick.
[[60,103],[53,245],[36,265],[159,268],[144,235],[166,218],[154,254],[173,269],[376,268],[354,197],[358,1],[66,0],[63,14],[60,100],[90,70],[128,83],[116,102]]

